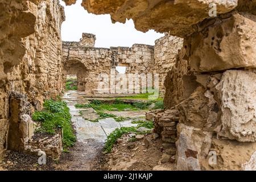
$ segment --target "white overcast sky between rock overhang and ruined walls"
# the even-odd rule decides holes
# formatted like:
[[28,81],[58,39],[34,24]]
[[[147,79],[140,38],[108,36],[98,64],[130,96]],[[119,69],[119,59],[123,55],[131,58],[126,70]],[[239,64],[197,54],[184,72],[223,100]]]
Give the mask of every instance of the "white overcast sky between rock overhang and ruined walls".
[[149,44],[154,46],[155,40],[164,36],[150,30],[146,33],[137,31],[134,28],[133,20],[126,21],[125,24],[113,24],[110,15],[93,15],[87,13],[81,6],[82,0],[75,5],[65,6],[66,20],[61,28],[61,36],[64,41],[79,41],[82,32],[95,34],[95,47],[131,47],[133,44]]

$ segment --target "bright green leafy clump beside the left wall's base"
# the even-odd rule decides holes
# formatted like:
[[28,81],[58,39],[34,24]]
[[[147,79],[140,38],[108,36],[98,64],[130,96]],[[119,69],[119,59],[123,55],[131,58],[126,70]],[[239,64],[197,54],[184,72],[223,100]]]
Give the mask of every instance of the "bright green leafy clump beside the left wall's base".
[[67,104],[63,101],[46,100],[43,104],[44,110],[35,111],[32,115],[34,121],[41,123],[38,132],[55,134],[57,129],[63,129],[63,147],[72,147],[76,142],[71,114]]

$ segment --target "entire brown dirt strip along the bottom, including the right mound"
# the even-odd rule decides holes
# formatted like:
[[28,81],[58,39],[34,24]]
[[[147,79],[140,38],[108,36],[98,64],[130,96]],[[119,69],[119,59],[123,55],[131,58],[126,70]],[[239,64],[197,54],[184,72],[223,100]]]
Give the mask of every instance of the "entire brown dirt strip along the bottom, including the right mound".
[[112,153],[103,154],[104,143],[94,140],[76,142],[69,153],[63,153],[59,160],[47,158],[46,165],[38,164],[38,156],[7,151],[1,170],[8,171],[174,171],[173,163],[160,163],[161,139],[154,140],[153,134],[130,142],[131,134],[117,140]]

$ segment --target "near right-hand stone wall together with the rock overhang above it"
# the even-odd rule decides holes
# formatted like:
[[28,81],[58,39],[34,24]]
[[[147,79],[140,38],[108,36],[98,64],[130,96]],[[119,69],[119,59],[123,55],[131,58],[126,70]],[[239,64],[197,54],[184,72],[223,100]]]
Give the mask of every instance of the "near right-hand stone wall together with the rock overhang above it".
[[[82,6],[110,14],[113,22],[133,19],[137,30],[184,38],[165,82],[170,109],[155,113],[156,130],[166,142],[176,141],[177,169],[255,170],[256,2],[132,2],[86,0]],[[176,134],[168,130],[174,118]]]

